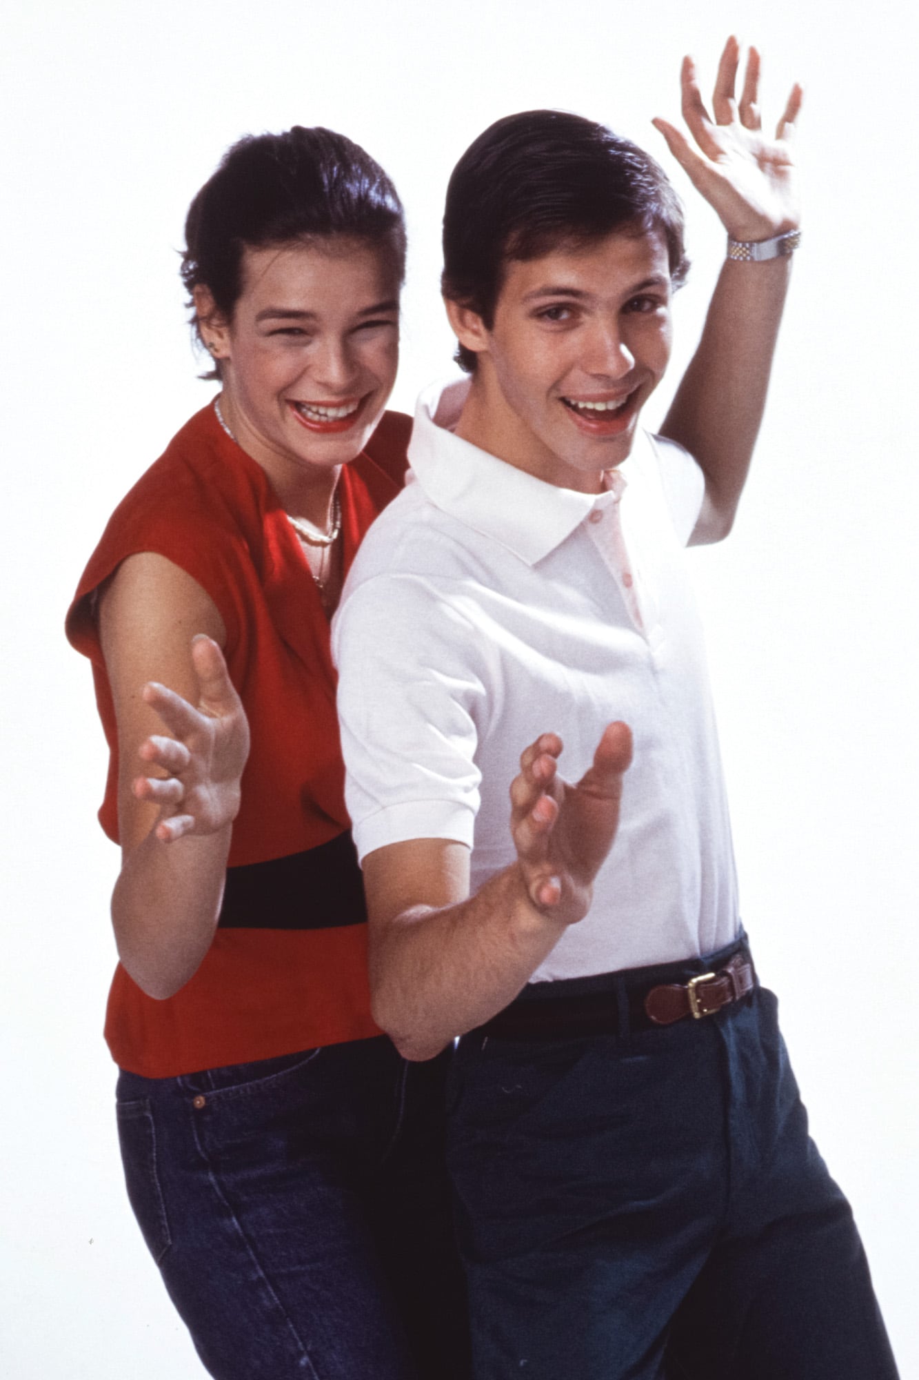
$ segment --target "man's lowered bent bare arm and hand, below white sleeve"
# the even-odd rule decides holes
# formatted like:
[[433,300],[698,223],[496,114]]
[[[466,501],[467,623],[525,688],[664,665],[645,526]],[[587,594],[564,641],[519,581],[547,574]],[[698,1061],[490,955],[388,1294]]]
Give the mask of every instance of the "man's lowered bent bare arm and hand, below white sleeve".
[[586,915],[632,738],[610,724],[577,785],[557,777],[560,752],[544,734],[523,753],[511,788],[517,861],[475,896],[460,843],[414,839],[364,858],[374,1018],[407,1058],[432,1058],[500,1012]]

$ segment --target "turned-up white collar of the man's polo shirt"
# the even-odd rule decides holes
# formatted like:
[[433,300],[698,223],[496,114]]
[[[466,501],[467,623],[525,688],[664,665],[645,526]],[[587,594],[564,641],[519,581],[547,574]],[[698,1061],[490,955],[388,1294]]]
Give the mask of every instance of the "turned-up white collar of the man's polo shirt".
[[571,535],[593,508],[617,502],[625,476],[609,472],[607,490],[559,489],[454,436],[471,381],[432,384],[418,397],[408,462],[425,497],[450,516],[534,566]]

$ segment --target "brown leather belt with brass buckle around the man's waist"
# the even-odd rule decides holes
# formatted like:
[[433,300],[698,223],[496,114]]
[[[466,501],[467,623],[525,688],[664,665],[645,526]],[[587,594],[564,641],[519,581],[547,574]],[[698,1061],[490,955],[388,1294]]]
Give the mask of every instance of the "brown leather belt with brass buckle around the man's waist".
[[[680,967],[687,972],[686,965],[675,965],[678,972]],[[684,1017],[702,1020],[752,992],[756,974],[747,945],[740,943],[738,952],[726,956],[713,972],[687,976],[684,983],[649,987],[636,969],[540,985],[545,991],[538,1000],[524,988],[522,996],[480,1025],[479,1034],[498,1039],[553,1039],[654,1029]],[[584,985],[592,989],[581,991]],[[569,995],[571,987],[575,992]]]

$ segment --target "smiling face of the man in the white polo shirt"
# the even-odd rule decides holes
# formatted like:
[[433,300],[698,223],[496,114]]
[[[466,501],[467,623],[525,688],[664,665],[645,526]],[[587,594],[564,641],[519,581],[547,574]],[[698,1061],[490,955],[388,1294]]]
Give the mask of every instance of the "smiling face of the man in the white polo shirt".
[[548,483],[599,491],[669,359],[664,237],[617,232],[512,259],[491,330],[455,302],[447,310],[477,359],[457,433]]

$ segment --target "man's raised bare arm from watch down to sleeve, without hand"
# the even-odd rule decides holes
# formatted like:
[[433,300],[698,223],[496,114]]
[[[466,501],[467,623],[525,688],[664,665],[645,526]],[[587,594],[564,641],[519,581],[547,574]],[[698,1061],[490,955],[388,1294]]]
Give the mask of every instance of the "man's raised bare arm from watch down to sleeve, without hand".
[[695,541],[730,531],[759,435],[791,258],[726,259],[702,338],[661,433],[684,446],[705,475],[706,522]]

